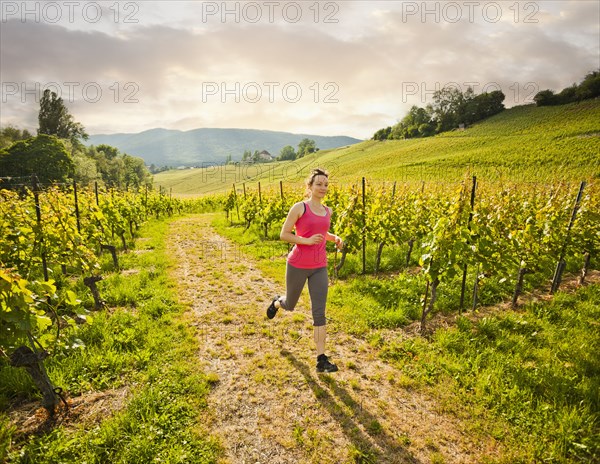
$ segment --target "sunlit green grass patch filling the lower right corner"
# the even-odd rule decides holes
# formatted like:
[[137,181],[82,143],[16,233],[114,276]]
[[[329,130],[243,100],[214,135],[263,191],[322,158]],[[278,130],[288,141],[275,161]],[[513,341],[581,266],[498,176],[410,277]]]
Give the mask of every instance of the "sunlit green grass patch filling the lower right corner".
[[426,339],[379,340],[382,358],[413,387],[503,441],[500,462],[600,458],[600,285]]

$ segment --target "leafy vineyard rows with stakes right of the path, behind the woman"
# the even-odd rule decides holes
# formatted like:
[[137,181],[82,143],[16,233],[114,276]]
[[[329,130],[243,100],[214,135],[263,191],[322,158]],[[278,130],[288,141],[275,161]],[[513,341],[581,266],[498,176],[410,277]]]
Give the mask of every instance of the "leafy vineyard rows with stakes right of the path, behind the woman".
[[[265,238],[299,200],[281,184],[279,192],[262,192],[260,184],[258,191],[238,190],[234,185],[228,195],[226,214],[246,229],[254,225]],[[475,177],[452,189],[369,186],[363,178],[361,184],[331,188],[326,197],[332,230],[344,240],[337,271],[347,254],[358,253],[364,273],[367,243],[377,248],[375,272],[385,247],[407,246],[407,265],[411,253],[420,253],[429,299],[423,325],[438,286],[461,275],[463,307],[469,267],[477,270],[475,289],[484,279],[514,280],[513,305],[527,274],[550,273],[556,291],[566,263],[580,262],[583,280],[600,249],[599,200],[591,184],[481,186]]]

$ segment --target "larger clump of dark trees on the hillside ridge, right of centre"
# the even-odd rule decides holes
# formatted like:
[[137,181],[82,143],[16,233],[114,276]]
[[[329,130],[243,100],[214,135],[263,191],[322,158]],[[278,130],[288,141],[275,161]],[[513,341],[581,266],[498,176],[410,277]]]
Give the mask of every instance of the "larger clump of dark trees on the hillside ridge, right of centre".
[[503,111],[504,98],[500,90],[475,95],[471,87],[465,92],[444,87],[434,92],[433,103],[424,108],[413,105],[396,125],[375,132],[373,140],[429,137],[460,125],[468,126]]

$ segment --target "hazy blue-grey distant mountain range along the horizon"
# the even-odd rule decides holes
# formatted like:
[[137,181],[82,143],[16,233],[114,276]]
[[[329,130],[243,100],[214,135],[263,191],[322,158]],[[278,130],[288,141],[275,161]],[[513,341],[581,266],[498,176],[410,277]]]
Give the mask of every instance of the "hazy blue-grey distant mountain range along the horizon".
[[245,150],[267,150],[278,156],[286,145],[297,149],[298,143],[308,138],[317,148],[343,147],[361,142],[346,136],[292,134],[255,129],[194,129],[179,131],[150,129],[136,134],[91,135],[86,145],[107,144],[121,153],[138,156],[146,164],[155,166],[201,166],[202,163],[222,163],[228,155],[240,160]]

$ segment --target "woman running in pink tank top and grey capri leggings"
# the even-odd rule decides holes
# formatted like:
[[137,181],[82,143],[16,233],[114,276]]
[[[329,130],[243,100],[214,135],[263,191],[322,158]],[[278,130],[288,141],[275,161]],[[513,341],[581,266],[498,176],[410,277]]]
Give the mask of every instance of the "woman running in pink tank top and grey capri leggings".
[[[331,208],[323,205],[329,186],[329,174],[322,169],[313,169],[306,180],[309,198],[291,207],[281,228],[279,237],[294,247],[288,254],[285,270],[285,297],[276,296],[267,309],[267,317],[273,319],[277,310],[293,311],[308,280],[308,292],[312,306],[314,338],[317,346],[317,372],[336,372],[335,364],[325,355],[327,302],[327,252],[326,241],[335,242],[338,249],[343,241],[329,233]],[[292,231],[296,229],[294,234]]]

